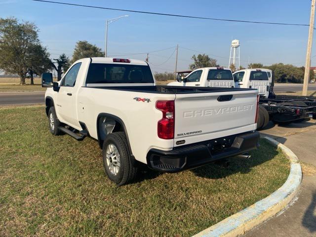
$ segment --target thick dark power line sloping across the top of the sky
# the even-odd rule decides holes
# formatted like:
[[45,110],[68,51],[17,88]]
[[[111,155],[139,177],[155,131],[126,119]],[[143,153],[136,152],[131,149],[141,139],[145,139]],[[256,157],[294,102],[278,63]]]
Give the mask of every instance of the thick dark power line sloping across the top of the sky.
[[110,7],[102,7],[102,6],[92,6],[92,5],[83,5],[83,4],[75,4],[75,3],[67,3],[67,2],[59,2],[59,1],[48,1],[48,0],[33,0],[33,1],[57,3],[57,4],[71,5],[71,6],[90,7],[90,8],[98,8],[98,9],[105,9],[105,10],[135,12],[135,13],[144,13],[144,14],[153,14],[153,15],[162,15],[162,16],[174,16],[174,17],[183,17],[183,18],[194,18],[194,19],[203,19],[203,20],[214,20],[214,21],[228,21],[228,22],[255,23],[255,24],[270,24],[270,25],[286,25],[286,26],[310,26],[309,24],[296,24],[296,23],[293,24],[293,23],[264,22],[264,21],[243,21],[243,20],[232,20],[232,19],[211,18],[211,17],[187,16],[187,15],[167,14],[167,13],[158,13],[158,12],[150,12],[150,11],[127,10],[127,9],[110,8]]

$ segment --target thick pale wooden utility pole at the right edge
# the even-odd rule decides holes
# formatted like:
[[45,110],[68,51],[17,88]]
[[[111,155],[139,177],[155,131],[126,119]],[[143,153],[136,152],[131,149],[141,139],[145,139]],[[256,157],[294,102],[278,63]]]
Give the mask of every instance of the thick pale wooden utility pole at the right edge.
[[304,74],[304,84],[303,84],[303,93],[302,93],[302,95],[304,96],[307,96],[308,82],[310,79],[311,52],[312,52],[312,45],[313,45],[314,20],[315,20],[315,3],[316,3],[316,0],[312,0],[310,30],[308,33],[307,52],[306,52],[306,61],[305,61],[305,74]]

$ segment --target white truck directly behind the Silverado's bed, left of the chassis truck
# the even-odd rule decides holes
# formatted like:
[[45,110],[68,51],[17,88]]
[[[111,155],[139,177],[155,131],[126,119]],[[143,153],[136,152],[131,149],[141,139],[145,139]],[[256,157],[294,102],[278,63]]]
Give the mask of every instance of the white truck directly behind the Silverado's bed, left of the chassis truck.
[[213,67],[198,68],[185,78],[178,77],[177,81],[170,82],[168,85],[234,87],[234,84],[233,74],[229,68]]

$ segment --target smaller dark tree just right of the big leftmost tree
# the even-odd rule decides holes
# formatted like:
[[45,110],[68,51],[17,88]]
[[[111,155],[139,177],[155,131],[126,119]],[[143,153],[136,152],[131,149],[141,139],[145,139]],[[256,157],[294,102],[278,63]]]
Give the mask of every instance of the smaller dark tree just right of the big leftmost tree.
[[40,44],[35,44],[30,47],[30,58],[28,62],[29,75],[31,85],[34,84],[34,74],[41,75],[44,72],[52,69],[52,63],[49,59],[47,49]]

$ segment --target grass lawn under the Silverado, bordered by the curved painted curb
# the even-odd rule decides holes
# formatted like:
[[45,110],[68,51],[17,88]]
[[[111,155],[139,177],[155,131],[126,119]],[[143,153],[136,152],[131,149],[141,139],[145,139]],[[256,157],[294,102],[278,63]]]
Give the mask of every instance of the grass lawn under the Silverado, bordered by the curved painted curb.
[[117,187],[95,140],[53,136],[44,107],[0,108],[0,236],[191,236],[267,197],[289,163],[266,141],[249,160]]

